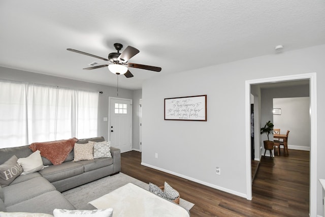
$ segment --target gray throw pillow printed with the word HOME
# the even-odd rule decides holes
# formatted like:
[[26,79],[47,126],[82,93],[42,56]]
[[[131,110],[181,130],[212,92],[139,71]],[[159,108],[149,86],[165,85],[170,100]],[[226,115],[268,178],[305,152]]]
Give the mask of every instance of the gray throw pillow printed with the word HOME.
[[17,163],[14,155],[4,164],[0,165],[0,185],[5,187],[22,173],[22,167]]

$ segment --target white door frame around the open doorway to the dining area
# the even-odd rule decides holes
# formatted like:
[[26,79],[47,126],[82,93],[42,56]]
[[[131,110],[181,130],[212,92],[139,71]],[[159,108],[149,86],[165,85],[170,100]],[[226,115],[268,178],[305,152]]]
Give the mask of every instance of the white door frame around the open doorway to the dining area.
[[310,90],[310,186],[309,215],[317,215],[317,89],[316,73],[288,75],[245,81],[245,126],[246,126],[246,198],[252,200],[252,176],[250,155],[250,86],[252,84],[279,81],[295,81],[309,79]]

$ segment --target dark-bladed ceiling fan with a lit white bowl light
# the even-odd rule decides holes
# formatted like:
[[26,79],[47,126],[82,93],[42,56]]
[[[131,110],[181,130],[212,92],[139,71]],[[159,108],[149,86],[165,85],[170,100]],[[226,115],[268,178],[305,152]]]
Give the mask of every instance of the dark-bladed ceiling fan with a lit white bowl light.
[[120,50],[122,49],[123,45],[120,44],[120,43],[115,43],[114,47],[117,50],[117,52],[108,54],[108,58],[103,58],[101,56],[96,56],[96,55],[93,55],[93,54],[90,54],[90,53],[86,53],[86,52],[71,49],[71,48],[68,48],[67,50],[72,51],[72,52],[76,52],[76,53],[80,53],[80,54],[84,54],[84,55],[87,55],[87,56],[92,56],[92,57],[95,57],[95,58],[99,58],[99,59],[102,59],[102,60],[105,60],[105,61],[109,61],[109,64],[110,64],[110,65],[101,65],[101,66],[93,66],[93,67],[84,68],[85,70],[92,70],[92,69],[99,69],[99,68],[103,68],[103,67],[108,67],[108,69],[112,73],[117,74],[117,75],[124,74],[124,76],[126,78],[133,77],[133,74],[128,70],[127,67],[137,68],[137,69],[145,69],[145,70],[150,70],[150,71],[154,71],[154,72],[160,72],[161,71],[160,67],[128,63],[127,61],[129,59],[131,59],[133,56],[135,56],[137,53],[140,52],[137,48],[134,48],[132,46],[127,46],[123,50],[123,52],[120,53]]

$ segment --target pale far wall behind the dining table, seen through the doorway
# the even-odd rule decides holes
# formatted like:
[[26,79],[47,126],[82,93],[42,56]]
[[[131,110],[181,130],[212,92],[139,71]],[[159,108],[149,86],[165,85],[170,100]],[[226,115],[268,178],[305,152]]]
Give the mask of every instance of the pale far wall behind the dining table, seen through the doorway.
[[273,99],[273,107],[281,108],[281,115],[273,115],[274,128],[281,134],[289,130],[288,148],[310,150],[309,97]]

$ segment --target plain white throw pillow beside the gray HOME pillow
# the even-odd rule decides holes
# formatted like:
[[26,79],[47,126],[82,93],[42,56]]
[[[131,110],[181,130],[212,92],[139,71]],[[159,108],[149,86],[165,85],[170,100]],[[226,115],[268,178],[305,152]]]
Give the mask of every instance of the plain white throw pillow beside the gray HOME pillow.
[[34,173],[44,169],[41,151],[39,150],[31,153],[27,158],[19,158],[17,163],[20,164],[23,169],[21,175]]

